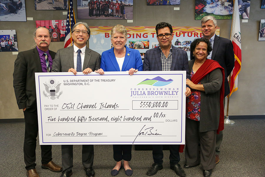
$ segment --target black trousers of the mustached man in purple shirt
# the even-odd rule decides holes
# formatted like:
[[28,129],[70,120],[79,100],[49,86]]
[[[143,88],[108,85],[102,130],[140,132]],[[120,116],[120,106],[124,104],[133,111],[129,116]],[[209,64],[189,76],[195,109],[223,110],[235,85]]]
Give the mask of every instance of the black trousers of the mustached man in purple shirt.
[[[36,166],[36,144],[38,136],[38,114],[34,112],[24,111],[25,118],[25,138],[24,138],[24,161],[26,169],[31,170]],[[42,164],[47,164],[52,160],[52,145],[41,145]]]

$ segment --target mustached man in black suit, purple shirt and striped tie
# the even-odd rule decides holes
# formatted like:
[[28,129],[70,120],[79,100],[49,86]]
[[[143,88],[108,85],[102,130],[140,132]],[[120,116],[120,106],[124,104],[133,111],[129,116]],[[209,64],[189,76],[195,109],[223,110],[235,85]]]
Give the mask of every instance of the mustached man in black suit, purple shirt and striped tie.
[[[55,52],[49,50],[51,33],[44,27],[34,32],[37,47],[19,52],[15,60],[13,85],[19,109],[23,109],[25,119],[24,161],[28,177],[38,177],[36,166],[36,138],[38,135],[37,99],[35,74],[50,72]],[[62,171],[62,167],[52,162],[52,145],[41,145],[42,168]]]

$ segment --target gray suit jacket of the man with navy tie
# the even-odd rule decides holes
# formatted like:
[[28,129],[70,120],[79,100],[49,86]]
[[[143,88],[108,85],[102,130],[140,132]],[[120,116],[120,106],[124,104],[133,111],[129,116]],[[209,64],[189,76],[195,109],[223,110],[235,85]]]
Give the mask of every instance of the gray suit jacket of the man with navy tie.
[[[52,72],[68,72],[74,68],[74,46],[59,49],[52,63]],[[100,68],[100,54],[86,47],[82,71],[91,68],[92,71]]]

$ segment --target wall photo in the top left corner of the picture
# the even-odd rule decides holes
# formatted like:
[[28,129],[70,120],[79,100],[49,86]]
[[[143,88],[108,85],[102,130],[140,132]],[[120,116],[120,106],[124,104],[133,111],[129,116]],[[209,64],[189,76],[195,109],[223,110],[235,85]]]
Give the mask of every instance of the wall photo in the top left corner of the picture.
[[26,22],[25,0],[1,0],[0,21]]

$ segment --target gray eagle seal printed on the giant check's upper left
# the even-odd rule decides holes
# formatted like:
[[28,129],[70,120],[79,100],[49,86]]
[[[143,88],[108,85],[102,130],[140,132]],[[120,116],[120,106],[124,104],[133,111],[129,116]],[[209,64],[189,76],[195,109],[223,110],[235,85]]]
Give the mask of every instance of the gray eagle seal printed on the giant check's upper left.
[[61,83],[59,83],[59,82],[57,82],[56,83],[56,81],[55,81],[55,79],[53,79],[53,78],[51,78],[50,80],[49,80],[49,83],[47,83],[47,82],[45,82],[45,83],[43,83],[44,84],[44,86],[45,86],[45,90],[46,90],[46,92],[45,91],[43,91],[43,95],[45,96],[45,97],[48,97],[48,98],[50,98],[50,99],[52,99],[52,100],[54,100],[54,99],[59,99],[59,96],[63,93],[62,91],[59,93],[59,95],[57,95],[58,94],[58,92],[60,91],[60,85],[61,85]]

